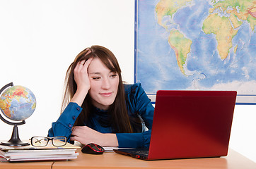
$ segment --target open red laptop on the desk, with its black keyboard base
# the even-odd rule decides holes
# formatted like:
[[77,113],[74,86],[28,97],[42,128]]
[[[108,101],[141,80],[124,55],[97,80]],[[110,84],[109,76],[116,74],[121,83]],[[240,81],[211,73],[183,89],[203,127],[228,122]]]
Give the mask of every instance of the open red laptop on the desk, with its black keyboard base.
[[227,156],[236,94],[160,90],[149,149],[114,151],[144,160]]

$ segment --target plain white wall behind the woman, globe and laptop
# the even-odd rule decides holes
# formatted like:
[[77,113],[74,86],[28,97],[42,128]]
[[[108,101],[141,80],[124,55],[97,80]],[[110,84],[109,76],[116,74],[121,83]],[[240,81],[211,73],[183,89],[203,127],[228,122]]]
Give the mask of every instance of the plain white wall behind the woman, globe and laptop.
[[[59,117],[64,75],[74,57],[93,44],[117,56],[123,80],[134,82],[134,1],[0,1],[0,87],[31,89],[35,113],[18,126],[21,139],[46,136]],[[256,106],[235,106],[232,149],[256,161]],[[0,121],[0,139],[13,127]]]

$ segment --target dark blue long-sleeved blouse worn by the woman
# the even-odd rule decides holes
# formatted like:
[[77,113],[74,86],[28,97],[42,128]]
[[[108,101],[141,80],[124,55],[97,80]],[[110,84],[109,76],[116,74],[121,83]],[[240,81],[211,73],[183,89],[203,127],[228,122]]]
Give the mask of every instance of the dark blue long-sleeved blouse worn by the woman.
[[[143,127],[139,129],[141,132],[137,133],[116,133],[119,147],[149,147],[154,111],[151,100],[140,83],[124,84],[124,90],[129,115],[139,115]],[[112,127],[100,125],[99,122],[106,113],[98,108],[93,110],[92,123],[87,126],[101,133],[112,133]],[[52,123],[52,128],[48,131],[48,137],[66,136],[68,142],[70,142],[71,128],[81,111],[82,108],[78,104],[69,103],[59,119]],[[145,128],[149,130],[146,131]]]

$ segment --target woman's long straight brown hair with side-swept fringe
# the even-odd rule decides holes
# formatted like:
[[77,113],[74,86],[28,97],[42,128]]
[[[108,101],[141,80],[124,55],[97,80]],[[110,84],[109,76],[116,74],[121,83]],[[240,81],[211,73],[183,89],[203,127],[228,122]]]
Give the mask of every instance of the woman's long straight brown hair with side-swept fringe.
[[[69,101],[74,96],[77,89],[77,85],[74,80],[74,68],[76,68],[76,65],[80,61],[87,61],[88,58],[91,57],[99,58],[108,69],[117,73],[119,76],[117,96],[113,104],[110,105],[107,110],[107,112],[110,113],[111,118],[109,119],[109,124],[111,124],[113,132],[133,132],[125,104],[124,84],[122,82],[120,66],[115,55],[103,46],[91,46],[90,48],[84,49],[76,56],[74,62],[69,65],[69,68],[66,71],[62,111],[64,111],[66,105],[69,104]],[[91,110],[93,108],[90,94],[86,95],[86,99],[84,99],[81,107],[83,110],[80,115],[78,115],[74,125],[84,125],[89,123],[89,118],[92,112]]]

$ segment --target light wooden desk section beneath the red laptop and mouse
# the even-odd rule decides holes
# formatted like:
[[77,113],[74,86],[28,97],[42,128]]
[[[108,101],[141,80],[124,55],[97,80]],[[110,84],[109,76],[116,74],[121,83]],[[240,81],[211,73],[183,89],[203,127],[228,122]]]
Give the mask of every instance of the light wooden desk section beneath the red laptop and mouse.
[[221,158],[191,158],[182,160],[143,161],[105,152],[103,155],[82,154],[79,151],[78,158],[71,161],[55,161],[53,169],[63,168],[214,168],[214,169],[256,169],[256,163],[248,158],[230,150],[227,157]]

